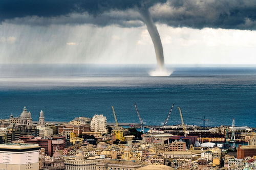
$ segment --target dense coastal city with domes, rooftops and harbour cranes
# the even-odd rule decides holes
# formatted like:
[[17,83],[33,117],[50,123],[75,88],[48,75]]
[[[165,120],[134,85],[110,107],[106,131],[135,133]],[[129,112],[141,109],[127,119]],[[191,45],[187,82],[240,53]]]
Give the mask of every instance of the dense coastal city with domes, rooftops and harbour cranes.
[[[174,105],[172,106],[173,109]],[[26,107],[19,116],[0,120],[0,169],[256,169],[254,127],[115,123],[104,115],[46,122],[44,111]],[[146,130],[147,129],[147,130]]]

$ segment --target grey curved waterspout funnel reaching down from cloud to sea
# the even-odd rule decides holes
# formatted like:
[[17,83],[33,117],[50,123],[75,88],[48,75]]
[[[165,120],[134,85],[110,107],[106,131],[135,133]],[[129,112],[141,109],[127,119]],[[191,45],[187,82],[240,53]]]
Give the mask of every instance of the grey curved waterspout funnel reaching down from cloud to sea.
[[157,65],[159,69],[164,69],[163,45],[150,11],[148,8],[139,8],[139,13],[141,14],[142,20],[145,23],[147,31],[150,33],[152,42],[154,44]]

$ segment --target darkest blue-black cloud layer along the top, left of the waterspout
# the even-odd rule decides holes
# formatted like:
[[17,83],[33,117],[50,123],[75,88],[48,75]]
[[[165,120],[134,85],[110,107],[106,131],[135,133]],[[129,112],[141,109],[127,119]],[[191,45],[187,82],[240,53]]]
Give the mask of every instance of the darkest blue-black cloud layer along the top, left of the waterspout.
[[55,17],[70,13],[87,12],[98,16],[110,10],[126,10],[140,6],[151,7],[166,1],[153,0],[2,0],[0,1],[0,19],[39,16]]

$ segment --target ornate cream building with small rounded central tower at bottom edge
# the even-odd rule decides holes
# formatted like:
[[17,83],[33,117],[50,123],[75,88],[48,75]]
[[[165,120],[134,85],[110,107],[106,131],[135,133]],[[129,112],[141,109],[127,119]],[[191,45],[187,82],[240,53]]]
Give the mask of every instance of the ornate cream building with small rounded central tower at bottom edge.
[[96,164],[109,160],[109,158],[84,159],[81,152],[76,154],[75,158],[65,158],[65,166],[67,170],[87,170],[96,169]]

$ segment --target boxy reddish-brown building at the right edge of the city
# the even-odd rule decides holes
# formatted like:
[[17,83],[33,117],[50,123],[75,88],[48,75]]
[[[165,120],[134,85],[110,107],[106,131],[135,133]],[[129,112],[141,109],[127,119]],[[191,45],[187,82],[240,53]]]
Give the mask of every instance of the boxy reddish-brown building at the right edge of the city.
[[256,155],[256,145],[239,145],[237,150],[237,158],[244,159],[244,157],[253,157]]

